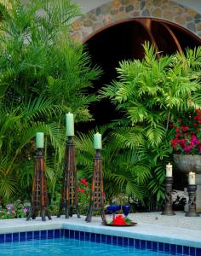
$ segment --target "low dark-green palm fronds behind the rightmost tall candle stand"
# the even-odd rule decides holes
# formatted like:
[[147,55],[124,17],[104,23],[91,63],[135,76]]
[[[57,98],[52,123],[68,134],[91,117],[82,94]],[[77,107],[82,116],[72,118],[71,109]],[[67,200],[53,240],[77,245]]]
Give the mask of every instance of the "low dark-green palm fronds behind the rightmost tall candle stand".
[[[136,154],[135,150],[129,150],[123,143],[119,143],[119,129],[112,128],[112,125],[101,126],[95,131],[89,131],[88,134],[79,133],[75,138],[78,170],[81,176],[88,180],[92,177],[95,157],[93,137],[96,131],[103,137],[102,170],[106,202],[111,203],[113,197],[119,198],[122,195],[143,201],[147,194],[145,183],[150,176],[150,169],[147,163],[141,160],[140,152]],[[126,132],[125,130],[122,137],[127,137]]]

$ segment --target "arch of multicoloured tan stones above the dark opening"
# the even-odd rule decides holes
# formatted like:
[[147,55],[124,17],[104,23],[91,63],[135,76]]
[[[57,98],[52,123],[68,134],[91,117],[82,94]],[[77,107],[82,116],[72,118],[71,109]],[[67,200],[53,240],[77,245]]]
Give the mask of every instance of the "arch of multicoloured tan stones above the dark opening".
[[72,22],[71,37],[84,43],[108,26],[135,18],[167,20],[201,38],[201,15],[169,0],[112,0]]

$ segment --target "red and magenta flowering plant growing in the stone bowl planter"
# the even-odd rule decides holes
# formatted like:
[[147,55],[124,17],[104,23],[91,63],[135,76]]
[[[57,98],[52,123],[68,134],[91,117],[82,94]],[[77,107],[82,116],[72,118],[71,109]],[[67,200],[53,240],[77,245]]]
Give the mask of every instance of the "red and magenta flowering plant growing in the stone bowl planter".
[[188,112],[169,126],[170,146],[175,154],[201,154],[201,109]]

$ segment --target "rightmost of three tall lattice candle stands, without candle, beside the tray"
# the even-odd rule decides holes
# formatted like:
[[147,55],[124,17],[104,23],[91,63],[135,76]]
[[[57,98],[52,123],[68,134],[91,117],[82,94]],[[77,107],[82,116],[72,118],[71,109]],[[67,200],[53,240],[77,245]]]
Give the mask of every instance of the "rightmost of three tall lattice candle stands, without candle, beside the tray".
[[93,211],[99,210],[103,223],[106,223],[103,193],[104,191],[103,191],[103,178],[102,178],[102,158],[101,158],[100,149],[96,149],[89,209],[88,209],[87,217],[85,219],[86,222],[91,221]]

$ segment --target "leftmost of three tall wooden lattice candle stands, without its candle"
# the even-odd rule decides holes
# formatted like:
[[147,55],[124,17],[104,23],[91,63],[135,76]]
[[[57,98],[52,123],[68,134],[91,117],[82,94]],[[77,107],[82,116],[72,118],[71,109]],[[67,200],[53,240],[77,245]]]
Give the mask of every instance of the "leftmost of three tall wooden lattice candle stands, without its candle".
[[34,167],[34,177],[32,183],[32,205],[26,220],[35,219],[38,212],[45,221],[45,215],[51,219],[48,211],[48,191],[44,173],[44,158],[42,148],[37,148]]

